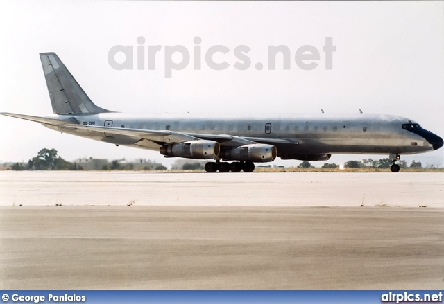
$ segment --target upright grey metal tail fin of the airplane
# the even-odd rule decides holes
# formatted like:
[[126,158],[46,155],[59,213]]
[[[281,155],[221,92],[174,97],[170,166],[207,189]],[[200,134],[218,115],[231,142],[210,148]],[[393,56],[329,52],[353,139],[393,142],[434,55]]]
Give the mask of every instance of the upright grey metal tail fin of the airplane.
[[94,105],[56,53],[40,53],[54,114],[106,113]]

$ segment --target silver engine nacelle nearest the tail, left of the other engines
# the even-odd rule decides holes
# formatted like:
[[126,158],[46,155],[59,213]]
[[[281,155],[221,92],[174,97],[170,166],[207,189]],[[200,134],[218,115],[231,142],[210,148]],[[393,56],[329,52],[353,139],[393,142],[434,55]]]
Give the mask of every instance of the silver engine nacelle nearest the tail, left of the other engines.
[[221,146],[216,141],[187,141],[160,147],[160,154],[166,157],[184,157],[185,159],[214,159],[219,155]]

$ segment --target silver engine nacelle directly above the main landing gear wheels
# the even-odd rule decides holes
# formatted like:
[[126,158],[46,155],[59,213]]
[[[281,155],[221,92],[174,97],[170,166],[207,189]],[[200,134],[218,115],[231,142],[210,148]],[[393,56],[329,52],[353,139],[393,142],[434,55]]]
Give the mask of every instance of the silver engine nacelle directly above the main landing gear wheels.
[[221,151],[219,157],[230,161],[253,161],[255,163],[267,163],[274,161],[278,150],[274,145],[262,143],[252,143],[250,145],[241,145],[240,147],[231,147]]

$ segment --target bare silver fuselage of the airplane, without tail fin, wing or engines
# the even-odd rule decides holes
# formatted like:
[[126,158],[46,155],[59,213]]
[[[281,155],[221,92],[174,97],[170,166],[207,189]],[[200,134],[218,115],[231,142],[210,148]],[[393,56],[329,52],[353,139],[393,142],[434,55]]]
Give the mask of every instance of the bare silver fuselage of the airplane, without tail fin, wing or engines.
[[[402,129],[412,123],[400,116],[377,114],[306,114],[275,117],[209,116],[137,116],[121,113],[80,114],[74,117],[80,125],[120,127],[127,129],[171,130],[184,134],[228,134],[278,148],[278,156],[291,154],[415,154],[433,150],[426,138]],[[51,129],[92,138],[116,145],[159,150],[153,141],[135,136],[89,132],[46,125]],[[222,144],[223,145],[223,144]]]

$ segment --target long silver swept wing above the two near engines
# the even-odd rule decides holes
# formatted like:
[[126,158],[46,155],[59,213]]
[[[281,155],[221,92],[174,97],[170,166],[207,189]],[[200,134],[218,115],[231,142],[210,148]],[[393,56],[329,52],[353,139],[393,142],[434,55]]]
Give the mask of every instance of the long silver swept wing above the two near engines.
[[87,129],[93,132],[112,133],[124,136],[133,136],[143,138],[155,143],[183,143],[185,141],[195,141],[197,139],[206,139],[217,141],[222,146],[237,147],[239,145],[249,145],[255,143],[250,139],[226,134],[194,134],[181,133],[170,130],[146,130],[146,129],[128,129],[122,127],[102,127],[96,125],[64,125],[72,129]]

